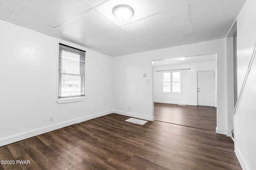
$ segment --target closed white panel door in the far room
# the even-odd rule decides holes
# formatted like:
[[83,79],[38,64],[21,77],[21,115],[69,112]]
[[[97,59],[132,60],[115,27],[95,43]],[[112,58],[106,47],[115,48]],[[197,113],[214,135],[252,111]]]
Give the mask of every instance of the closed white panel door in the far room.
[[197,72],[197,105],[214,106],[214,71]]

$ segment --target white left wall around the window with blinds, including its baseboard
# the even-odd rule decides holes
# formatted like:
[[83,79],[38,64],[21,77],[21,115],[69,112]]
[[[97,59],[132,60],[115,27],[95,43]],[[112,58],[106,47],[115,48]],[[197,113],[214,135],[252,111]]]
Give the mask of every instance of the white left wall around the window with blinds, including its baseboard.
[[113,112],[112,57],[84,49],[86,99],[58,104],[57,39],[2,20],[0,28],[0,146]]

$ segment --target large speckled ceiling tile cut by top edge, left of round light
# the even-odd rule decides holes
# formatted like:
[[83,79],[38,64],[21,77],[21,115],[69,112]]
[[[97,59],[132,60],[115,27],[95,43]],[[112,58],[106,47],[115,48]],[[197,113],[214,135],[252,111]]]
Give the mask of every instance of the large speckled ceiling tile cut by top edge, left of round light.
[[56,27],[90,8],[83,0],[26,0],[17,13]]

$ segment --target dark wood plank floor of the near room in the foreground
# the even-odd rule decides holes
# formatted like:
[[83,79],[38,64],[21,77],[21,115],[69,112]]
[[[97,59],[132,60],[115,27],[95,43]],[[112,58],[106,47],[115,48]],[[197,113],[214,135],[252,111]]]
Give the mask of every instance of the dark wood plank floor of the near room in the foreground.
[[231,138],[210,130],[110,114],[0,147],[0,169],[241,170]]

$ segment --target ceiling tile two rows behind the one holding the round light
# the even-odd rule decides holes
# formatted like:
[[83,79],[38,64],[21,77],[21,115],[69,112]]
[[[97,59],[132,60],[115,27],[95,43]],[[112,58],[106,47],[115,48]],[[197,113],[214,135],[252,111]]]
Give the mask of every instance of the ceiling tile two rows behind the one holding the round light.
[[136,37],[143,44],[150,44],[156,42],[163,42],[167,40],[182,38],[192,35],[192,29],[190,24],[184,26],[178,26],[175,28],[170,28],[160,32],[154,32],[152,34],[147,34],[144,36]]

